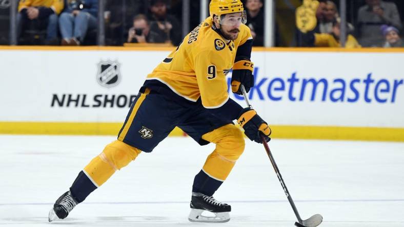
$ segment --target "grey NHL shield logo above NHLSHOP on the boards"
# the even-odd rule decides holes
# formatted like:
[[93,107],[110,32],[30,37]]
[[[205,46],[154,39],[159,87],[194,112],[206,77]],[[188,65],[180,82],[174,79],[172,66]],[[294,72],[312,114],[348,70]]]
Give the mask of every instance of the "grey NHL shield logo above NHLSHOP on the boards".
[[97,82],[103,87],[113,87],[120,81],[117,61],[101,61],[98,63]]

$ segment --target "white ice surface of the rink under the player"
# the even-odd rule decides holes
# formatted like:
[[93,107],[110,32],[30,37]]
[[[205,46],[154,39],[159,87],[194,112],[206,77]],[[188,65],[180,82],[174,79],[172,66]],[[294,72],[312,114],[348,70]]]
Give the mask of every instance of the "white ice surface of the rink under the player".
[[[0,225],[293,226],[296,217],[264,147],[246,141],[215,193],[231,220],[188,221],[194,175],[213,145],[167,138],[116,172],[63,221],[48,223],[54,201],[114,137],[0,135]],[[274,139],[270,148],[303,219],[320,226],[404,226],[404,143]]]

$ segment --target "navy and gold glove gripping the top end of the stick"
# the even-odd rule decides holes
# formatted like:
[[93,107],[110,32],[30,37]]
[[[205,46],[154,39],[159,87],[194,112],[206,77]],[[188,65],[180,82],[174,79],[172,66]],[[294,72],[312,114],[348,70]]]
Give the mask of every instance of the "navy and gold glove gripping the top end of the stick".
[[235,94],[242,95],[240,85],[243,84],[246,92],[254,86],[254,64],[249,60],[240,60],[234,63],[233,73],[231,76],[231,91]]

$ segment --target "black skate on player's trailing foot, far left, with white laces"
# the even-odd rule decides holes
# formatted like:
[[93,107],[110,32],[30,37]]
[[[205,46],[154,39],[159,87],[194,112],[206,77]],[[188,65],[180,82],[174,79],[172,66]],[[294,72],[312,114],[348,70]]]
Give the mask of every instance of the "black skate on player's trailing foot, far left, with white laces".
[[49,222],[64,219],[69,215],[70,211],[77,205],[70,191],[61,195],[49,211]]

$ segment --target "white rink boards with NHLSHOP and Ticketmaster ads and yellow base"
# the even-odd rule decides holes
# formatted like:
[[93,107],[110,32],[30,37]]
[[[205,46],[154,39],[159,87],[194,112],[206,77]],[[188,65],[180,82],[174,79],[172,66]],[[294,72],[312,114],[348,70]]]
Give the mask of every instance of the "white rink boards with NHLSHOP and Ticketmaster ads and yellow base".
[[[0,47],[0,133],[114,135],[170,51]],[[403,49],[261,48],[252,60],[250,101],[274,138],[404,141]]]

